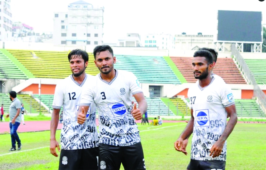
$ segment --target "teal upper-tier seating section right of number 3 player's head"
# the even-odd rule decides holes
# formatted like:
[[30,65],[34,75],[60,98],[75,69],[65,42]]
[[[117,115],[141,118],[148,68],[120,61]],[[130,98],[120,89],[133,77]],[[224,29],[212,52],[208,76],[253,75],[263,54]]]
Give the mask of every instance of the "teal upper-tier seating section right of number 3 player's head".
[[163,57],[115,56],[114,67],[132,71],[140,83],[181,84]]

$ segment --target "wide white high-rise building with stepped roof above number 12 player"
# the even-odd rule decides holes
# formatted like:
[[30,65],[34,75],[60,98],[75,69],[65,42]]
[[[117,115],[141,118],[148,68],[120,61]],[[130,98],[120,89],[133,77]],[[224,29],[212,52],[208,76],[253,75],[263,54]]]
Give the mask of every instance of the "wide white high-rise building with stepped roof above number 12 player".
[[55,45],[102,45],[104,7],[85,1],[68,5],[68,12],[54,12]]

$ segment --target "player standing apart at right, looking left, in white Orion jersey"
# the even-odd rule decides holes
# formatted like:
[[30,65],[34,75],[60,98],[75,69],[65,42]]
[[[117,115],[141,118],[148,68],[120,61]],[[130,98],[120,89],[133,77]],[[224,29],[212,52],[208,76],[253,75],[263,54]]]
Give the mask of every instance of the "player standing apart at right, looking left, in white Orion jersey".
[[[194,77],[199,79],[189,88],[191,119],[175,142],[177,151],[192,133],[190,170],[225,169],[226,139],[237,122],[231,88],[221,79],[211,76],[212,54],[207,50],[194,53]],[[227,115],[230,117],[226,124]]]

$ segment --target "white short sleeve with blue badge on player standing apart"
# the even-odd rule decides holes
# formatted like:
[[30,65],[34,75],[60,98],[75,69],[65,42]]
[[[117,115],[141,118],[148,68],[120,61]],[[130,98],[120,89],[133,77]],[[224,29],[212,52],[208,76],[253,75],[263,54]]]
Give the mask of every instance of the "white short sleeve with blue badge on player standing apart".
[[221,100],[224,107],[235,104],[234,96],[229,85],[225,84],[221,88]]

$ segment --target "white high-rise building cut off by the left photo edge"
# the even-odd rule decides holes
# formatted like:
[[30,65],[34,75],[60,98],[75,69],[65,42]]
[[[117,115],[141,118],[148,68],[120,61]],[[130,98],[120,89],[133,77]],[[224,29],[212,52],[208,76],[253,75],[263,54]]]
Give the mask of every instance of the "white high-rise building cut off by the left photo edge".
[[12,13],[10,0],[0,1],[0,41],[12,39]]

